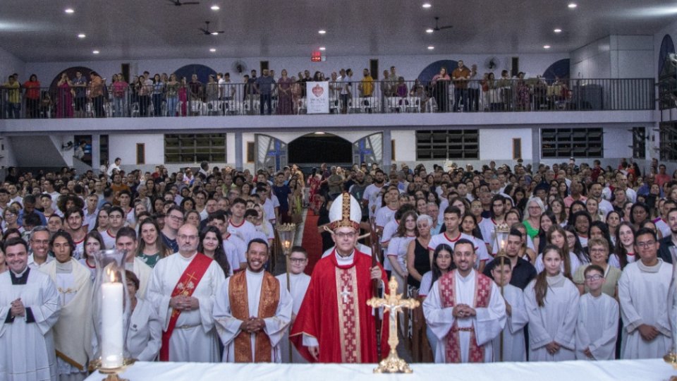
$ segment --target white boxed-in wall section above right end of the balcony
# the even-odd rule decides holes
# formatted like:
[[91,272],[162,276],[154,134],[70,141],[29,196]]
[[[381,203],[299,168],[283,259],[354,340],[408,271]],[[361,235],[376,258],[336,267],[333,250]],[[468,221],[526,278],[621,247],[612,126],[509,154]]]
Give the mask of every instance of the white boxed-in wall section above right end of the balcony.
[[571,78],[652,78],[653,36],[609,35],[571,52]]

